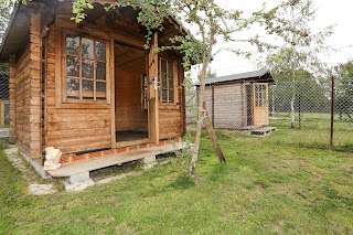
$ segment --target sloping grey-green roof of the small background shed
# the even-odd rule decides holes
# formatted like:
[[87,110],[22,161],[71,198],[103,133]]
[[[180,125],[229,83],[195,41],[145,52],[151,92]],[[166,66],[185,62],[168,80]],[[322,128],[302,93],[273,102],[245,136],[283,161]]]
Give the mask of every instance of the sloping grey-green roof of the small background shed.
[[[237,81],[247,81],[247,79],[256,79],[258,82],[267,82],[267,83],[275,82],[271,73],[268,70],[259,70],[259,71],[252,71],[252,72],[246,72],[240,74],[232,74],[226,76],[206,78],[206,85],[222,84],[222,83],[229,83],[229,82],[237,82]],[[200,82],[194,83],[194,86],[200,86]]]

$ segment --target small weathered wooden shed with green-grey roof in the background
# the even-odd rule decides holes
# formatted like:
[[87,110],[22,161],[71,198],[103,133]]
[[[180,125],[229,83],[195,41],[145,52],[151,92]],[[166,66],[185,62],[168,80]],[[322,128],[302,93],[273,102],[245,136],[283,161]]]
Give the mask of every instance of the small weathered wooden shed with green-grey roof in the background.
[[207,78],[205,100],[214,128],[268,125],[268,84],[274,82],[267,70]]

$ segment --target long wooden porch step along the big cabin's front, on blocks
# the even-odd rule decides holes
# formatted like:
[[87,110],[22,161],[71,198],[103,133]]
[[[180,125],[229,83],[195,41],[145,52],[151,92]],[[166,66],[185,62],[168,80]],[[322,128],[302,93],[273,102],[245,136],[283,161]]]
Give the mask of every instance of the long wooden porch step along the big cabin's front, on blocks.
[[107,156],[105,158],[90,159],[87,161],[65,164],[55,171],[47,171],[47,173],[53,178],[65,178],[186,148],[188,143],[176,142],[147,149],[132,150],[129,152]]

